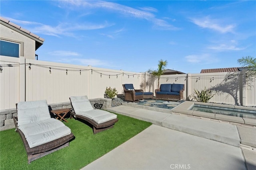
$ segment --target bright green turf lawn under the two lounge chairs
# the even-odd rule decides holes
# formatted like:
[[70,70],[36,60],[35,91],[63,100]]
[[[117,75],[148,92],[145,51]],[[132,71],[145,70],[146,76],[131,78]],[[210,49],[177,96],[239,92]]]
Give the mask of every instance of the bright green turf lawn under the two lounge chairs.
[[93,134],[92,128],[75,119],[68,119],[68,126],[75,136],[70,146],[39,158],[28,164],[23,142],[13,129],[0,132],[1,170],[78,170],[126,142],[152,123],[118,115],[114,128]]

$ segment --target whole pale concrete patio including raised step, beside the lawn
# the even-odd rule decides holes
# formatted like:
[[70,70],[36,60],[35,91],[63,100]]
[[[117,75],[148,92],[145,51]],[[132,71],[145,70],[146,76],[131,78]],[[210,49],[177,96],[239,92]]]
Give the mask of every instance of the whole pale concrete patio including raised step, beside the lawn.
[[134,105],[126,103],[108,111],[154,125],[84,167],[84,170],[256,168],[255,127],[130,106]]

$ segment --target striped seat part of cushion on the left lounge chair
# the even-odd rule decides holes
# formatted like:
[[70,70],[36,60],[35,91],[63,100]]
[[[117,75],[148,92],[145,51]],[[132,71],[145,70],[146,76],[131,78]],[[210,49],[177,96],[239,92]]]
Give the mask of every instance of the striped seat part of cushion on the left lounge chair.
[[20,125],[18,128],[25,135],[30,148],[51,142],[71,133],[70,128],[53,118]]

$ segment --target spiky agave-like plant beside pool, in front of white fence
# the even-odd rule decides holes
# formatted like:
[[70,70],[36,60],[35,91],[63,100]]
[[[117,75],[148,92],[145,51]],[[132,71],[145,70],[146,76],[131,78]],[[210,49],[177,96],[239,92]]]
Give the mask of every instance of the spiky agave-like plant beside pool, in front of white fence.
[[194,89],[194,93],[191,96],[196,101],[207,103],[214,96],[214,94],[212,94],[212,91],[207,90],[206,87],[204,87],[204,89],[201,91]]

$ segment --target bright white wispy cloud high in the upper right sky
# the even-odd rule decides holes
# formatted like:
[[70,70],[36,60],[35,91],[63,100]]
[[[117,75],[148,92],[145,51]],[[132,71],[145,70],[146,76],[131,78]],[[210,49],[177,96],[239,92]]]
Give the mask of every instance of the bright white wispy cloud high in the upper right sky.
[[218,19],[211,19],[209,16],[206,16],[204,18],[192,18],[191,22],[194,24],[202,27],[202,28],[208,28],[220,33],[234,33],[234,24],[222,24],[223,21]]

